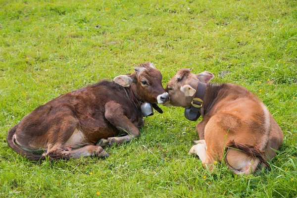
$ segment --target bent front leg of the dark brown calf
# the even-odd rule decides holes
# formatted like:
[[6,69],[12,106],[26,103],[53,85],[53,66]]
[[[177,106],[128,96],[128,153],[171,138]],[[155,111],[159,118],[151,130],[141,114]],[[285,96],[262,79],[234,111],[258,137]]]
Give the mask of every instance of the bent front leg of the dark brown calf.
[[138,128],[134,126],[124,114],[122,106],[115,101],[110,101],[105,104],[105,118],[119,131],[123,131],[128,135],[101,139],[96,144],[97,146],[106,147],[111,146],[113,143],[121,144],[123,142],[129,142],[132,138],[137,138],[139,136]]

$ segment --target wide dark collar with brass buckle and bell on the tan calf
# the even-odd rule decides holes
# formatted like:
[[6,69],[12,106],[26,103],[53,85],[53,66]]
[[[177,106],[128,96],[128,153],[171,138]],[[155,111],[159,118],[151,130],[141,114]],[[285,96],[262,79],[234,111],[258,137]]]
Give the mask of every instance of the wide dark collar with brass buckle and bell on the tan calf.
[[201,107],[203,105],[203,98],[206,91],[206,83],[199,82],[198,87],[196,89],[195,97],[192,99],[191,107],[185,109],[185,117],[188,120],[196,121],[200,117],[200,115],[204,114],[201,112]]

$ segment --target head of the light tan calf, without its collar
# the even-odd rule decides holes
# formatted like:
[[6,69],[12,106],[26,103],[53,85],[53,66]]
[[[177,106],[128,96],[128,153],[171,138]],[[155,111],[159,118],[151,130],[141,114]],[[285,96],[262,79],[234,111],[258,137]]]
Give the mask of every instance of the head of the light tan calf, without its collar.
[[166,86],[165,91],[170,96],[170,101],[166,104],[189,108],[199,81],[208,83],[213,77],[213,74],[207,71],[192,74],[191,69],[179,70]]

